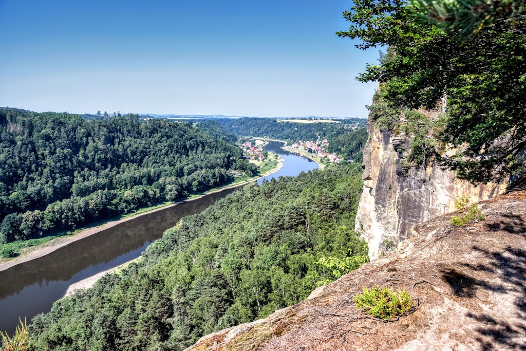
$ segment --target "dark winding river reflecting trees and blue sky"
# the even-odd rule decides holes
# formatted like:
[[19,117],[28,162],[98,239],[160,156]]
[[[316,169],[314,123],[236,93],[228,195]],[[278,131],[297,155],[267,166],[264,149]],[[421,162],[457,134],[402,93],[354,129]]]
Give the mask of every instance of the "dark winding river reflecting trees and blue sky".
[[[265,149],[284,159],[281,169],[258,180],[296,176],[318,168],[316,162],[281,149],[280,142],[269,142]],[[137,258],[163,232],[184,216],[199,213],[236,188],[203,196],[127,220],[54,252],[0,271],[0,330],[14,333],[18,318],[27,320],[49,312],[67,288],[104,270]]]

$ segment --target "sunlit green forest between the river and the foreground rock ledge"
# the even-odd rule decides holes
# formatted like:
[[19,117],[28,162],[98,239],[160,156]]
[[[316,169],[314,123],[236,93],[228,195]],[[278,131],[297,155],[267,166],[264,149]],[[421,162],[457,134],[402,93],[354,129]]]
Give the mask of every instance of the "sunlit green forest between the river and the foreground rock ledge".
[[367,255],[353,231],[360,174],[333,164],[250,184],[185,217],[119,275],[36,316],[37,349],[181,350],[299,302],[334,278],[321,257]]

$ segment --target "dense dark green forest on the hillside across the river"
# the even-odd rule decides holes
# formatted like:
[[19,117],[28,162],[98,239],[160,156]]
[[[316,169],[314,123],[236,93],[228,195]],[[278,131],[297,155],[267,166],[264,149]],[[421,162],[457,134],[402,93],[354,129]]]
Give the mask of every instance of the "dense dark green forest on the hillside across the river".
[[231,168],[255,172],[185,123],[0,108],[0,244],[176,200],[229,182]]

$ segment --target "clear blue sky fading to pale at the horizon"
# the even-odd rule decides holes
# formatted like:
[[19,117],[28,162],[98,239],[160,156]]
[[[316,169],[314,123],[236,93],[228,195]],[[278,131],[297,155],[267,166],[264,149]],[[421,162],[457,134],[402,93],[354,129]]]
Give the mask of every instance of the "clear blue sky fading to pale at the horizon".
[[348,0],[0,0],[0,106],[367,117]]

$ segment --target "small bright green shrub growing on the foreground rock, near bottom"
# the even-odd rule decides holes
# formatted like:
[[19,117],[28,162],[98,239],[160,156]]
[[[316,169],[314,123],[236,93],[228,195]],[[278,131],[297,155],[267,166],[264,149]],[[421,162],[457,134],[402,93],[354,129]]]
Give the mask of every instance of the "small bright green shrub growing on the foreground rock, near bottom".
[[363,293],[356,295],[354,300],[356,308],[385,320],[397,319],[410,312],[413,307],[411,295],[405,290],[394,292],[388,287],[380,289],[376,286],[370,290],[363,287]]

